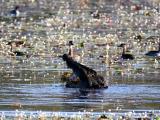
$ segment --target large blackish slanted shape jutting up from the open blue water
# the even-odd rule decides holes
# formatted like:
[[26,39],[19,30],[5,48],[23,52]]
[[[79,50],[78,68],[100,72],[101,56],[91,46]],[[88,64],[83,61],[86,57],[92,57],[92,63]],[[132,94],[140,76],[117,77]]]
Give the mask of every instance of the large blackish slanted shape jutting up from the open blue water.
[[79,79],[76,82],[68,81],[66,87],[81,89],[107,88],[107,82],[104,80],[104,77],[98,75],[95,70],[76,62],[67,54],[64,54],[62,58],[67,66],[72,69],[75,77]]

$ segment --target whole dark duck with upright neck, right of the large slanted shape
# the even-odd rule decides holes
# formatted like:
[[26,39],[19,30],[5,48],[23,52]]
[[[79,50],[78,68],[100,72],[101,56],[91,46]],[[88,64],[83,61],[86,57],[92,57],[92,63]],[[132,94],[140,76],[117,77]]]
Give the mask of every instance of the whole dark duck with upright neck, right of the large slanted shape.
[[133,60],[134,56],[132,54],[126,53],[126,44],[122,43],[120,44],[118,47],[122,47],[123,51],[122,51],[122,55],[121,58],[124,60]]

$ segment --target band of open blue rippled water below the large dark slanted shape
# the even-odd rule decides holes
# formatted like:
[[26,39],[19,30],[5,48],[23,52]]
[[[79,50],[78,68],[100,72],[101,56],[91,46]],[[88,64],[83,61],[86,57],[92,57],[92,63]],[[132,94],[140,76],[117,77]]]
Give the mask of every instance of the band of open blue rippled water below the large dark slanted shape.
[[[120,106],[130,109],[130,105],[133,108],[145,109],[146,107],[143,106],[145,103],[158,105],[160,102],[160,85],[113,84],[108,89],[90,90],[86,93],[81,93],[79,89],[65,88],[63,84],[3,85],[1,88],[1,106],[9,106],[18,101],[24,108],[30,109],[34,109],[35,106],[39,108],[43,106],[44,110],[63,107],[63,110],[67,111],[75,108],[100,111],[102,107],[116,109],[117,106]],[[128,102],[128,105],[125,102]]]

